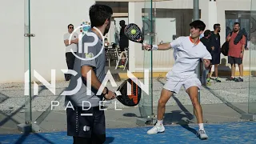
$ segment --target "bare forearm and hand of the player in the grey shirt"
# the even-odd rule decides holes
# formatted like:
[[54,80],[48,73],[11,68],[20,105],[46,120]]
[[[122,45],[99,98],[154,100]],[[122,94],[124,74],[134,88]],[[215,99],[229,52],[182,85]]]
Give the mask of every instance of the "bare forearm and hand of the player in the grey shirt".
[[[94,73],[94,70],[91,66],[82,66],[81,68],[81,74],[82,77],[87,79],[87,74],[91,72],[91,86],[94,87],[94,89],[99,90],[102,83],[98,80],[96,74]],[[106,88],[102,91],[102,94],[104,94],[104,97],[106,99],[113,99],[114,98],[114,92],[108,91],[108,94]]]

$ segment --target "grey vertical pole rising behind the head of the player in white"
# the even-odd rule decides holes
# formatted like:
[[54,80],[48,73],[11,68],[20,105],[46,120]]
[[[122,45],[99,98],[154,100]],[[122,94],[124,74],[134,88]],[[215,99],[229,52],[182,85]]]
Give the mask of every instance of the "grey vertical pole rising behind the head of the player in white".
[[[199,0],[194,0],[193,2],[193,10],[194,10],[194,21],[199,20]],[[200,79],[200,62],[198,63],[196,74],[198,75],[198,78]],[[198,90],[198,101],[200,102],[200,90]],[[194,110],[193,110],[194,111]]]

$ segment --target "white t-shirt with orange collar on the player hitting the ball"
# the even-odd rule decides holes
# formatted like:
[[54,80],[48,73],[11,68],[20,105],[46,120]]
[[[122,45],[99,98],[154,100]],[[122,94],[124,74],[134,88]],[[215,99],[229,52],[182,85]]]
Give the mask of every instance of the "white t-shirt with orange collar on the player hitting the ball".
[[[190,37],[179,37],[170,42],[174,49],[174,66],[166,77],[178,74],[179,76],[196,76],[195,69],[198,62],[205,59],[211,59],[211,54],[202,42],[198,41],[194,44]],[[174,74],[172,74],[174,73]]]

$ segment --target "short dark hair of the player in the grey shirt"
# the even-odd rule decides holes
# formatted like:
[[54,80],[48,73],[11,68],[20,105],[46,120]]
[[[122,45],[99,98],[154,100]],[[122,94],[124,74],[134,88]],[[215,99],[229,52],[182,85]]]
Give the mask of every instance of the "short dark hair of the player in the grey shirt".
[[90,23],[91,27],[102,26],[106,20],[110,20],[113,10],[110,6],[94,4],[90,6]]

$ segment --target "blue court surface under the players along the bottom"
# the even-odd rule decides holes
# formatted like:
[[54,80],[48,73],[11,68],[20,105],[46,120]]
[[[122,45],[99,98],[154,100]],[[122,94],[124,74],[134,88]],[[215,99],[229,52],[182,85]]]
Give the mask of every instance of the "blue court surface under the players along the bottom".
[[[195,135],[198,125],[166,126],[162,134],[148,135],[150,127],[107,129],[106,143],[256,143],[256,122],[230,122],[205,124],[208,140],[200,140]],[[37,134],[1,134],[0,142],[5,143],[72,143],[66,132]]]

